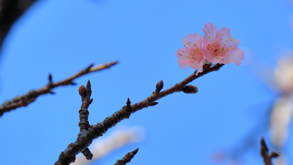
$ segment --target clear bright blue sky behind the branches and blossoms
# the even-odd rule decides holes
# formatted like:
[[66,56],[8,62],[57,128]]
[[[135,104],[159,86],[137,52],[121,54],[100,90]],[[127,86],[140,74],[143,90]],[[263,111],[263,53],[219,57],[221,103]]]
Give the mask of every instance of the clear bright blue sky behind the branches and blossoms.
[[[27,107],[0,118],[3,164],[54,164],[79,132],[78,87],[92,84],[89,122],[96,124],[120,110],[127,97],[144,100],[164,82],[167,89],[193,73],[179,69],[175,51],[188,33],[205,23],[227,27],[246,59],[225,65],[190,83],[195,95],[174,93],[118,125],[140,126],[144,141],[124,147],[95,164],[114,164],[139,147],[130,164],[215,164],[212,155],[234,148],[265,120],[277,94],[261,83],[251,66],[272,68],[292,49],[290,1],[114,1],[40,0],[23,14],[8,34],[0,60],[0,100],[4,102],[48,81],[62,80],[91,63],[119,60],[109,70],[58,87]],[[251,136],[268,138],[263,126]],[[111,133],[113,130],[109,130]],[[292,134],[292,133],[291,133]],[[287,154],[292,155],[292,140]],[[270,147],[270,146],[269,146]],[[290,149],[291,148],[291,149]],[[236,151],[237,152],[237,151]],[[239,151],[240,152],[240,151]],[[289,159],[292,164],[292,160]],[[261,164],[259,147],[243,155],[243,164]]]

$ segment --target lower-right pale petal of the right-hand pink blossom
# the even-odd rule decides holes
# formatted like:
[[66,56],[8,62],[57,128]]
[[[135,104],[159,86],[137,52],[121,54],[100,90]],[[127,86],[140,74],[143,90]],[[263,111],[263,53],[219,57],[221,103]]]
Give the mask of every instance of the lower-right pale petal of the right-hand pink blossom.
[[222,57],[223,59],[221,59],[220,56],[220,64],[231,64],[231,63],[236,63],[236,65],[240,65],[241,61],[243,61],[245,59],[245,55],[244,52],[240,49],[240,48],[236,48],[235,50],[232,50],[230,52],[227,52],[226,54],[228,54],[227,57]]

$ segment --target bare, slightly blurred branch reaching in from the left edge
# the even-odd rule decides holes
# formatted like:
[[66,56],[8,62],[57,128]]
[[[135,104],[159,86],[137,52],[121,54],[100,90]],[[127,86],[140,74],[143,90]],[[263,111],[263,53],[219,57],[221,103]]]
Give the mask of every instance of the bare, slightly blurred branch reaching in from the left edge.
[[95,67],[93,67],[93,64],[92,64],[89,67],[87,67],[86,69],[83,69],[83,70],[79,71],[78,73],[72,75],[71,77],[69,77],[65,80],[59,81],[57,83],[53,83],[52,82],[52,75],[49,75],[49,83],[47,85],[45,85],[44,87],[37,89],[37,90],[31,90],[28,93],[26,93],[25,95],[19,95],[19,96],[15,97],[14,99],[12,99],[11,101],[9,101],[9,100],[5,101],[0,106],[0,116],[2,116],[4,114],[4,112],[14,110],[18,107],[27,106],[31,102],[35,101],[37,99],[37,97],[40,95],[44,95],[47,93],[54,93],[52,91],[52,89],[55,87],[66,86],[69,84],[75,85],[75,83],[73,83],[74,79],[76,79],[82,75],[91,73],[91,72],[103,70],[105,68],[110,68],[110,66],[112,66],[116,63],[118,63],[118,61],[104,63],[104,64],[101,64],[101,65],[98,65]]

